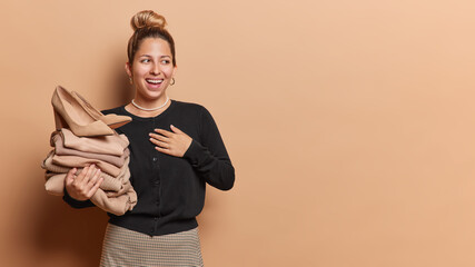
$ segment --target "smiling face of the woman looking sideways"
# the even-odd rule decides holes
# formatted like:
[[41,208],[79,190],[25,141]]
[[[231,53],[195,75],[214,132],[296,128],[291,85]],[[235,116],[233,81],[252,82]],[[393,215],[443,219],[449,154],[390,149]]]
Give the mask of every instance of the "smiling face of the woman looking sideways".
[[126,71],[133,80],[136,99],[157,100],[166,97],[166,89],[175,75],[170,46],[161,38],[146,38],[137,50],[133,63]]

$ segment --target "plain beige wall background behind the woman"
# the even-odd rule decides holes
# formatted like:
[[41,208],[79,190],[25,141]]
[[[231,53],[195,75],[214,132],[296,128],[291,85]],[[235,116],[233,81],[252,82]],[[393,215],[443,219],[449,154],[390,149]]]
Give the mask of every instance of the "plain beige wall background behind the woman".
[[206,266],[475,266],[473,1],[2,1],[0,258],[97,266],[107,215],[43,188],[57,85],[130,100],[142,9],[177,42],[169,96],[214,115]]

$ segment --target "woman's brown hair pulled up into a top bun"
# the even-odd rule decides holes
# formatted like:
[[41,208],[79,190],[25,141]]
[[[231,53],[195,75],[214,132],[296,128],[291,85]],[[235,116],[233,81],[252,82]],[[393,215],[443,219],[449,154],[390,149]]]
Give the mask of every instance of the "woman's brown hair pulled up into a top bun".
[[133,57],[139,49],[141,42],[146,38],[160,38],[168,42],[171,50],[172,63],[177,66],[175,58],[175,41],[170,32],[165,29],[167,21],[164,16],[154,12],[152,10],[142,10],[136,13],[130,20],[130,26],[133,29],[133,34],[129,39],[127,46],[127,56],[130,66],[133,63]]

